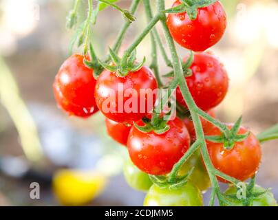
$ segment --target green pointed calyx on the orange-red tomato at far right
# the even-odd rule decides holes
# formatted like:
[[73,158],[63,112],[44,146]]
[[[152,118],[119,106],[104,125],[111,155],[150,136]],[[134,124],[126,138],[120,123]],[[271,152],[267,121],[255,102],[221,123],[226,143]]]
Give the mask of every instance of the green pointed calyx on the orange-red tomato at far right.
[[224,144],[224,148],[226,150],[232,150],[233,146],[235,146],[237,142],[243,142],[250,135],[250,132],[247,132],[243,135],[237,134],[241,124],[242,117],[240,117],[237,122],[235,122],[235,125],[231,130],[227,130],[226,133],[222,133],[222,135],[206,136],[206,140],[209,142]]

